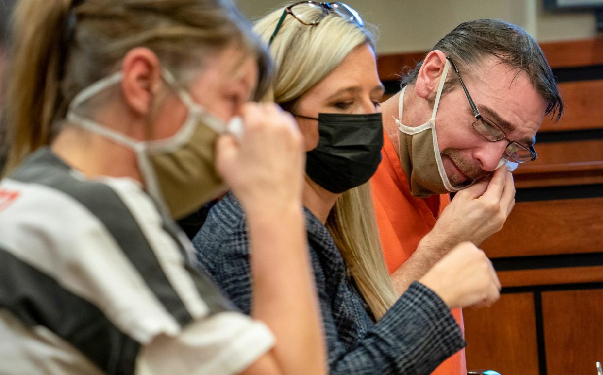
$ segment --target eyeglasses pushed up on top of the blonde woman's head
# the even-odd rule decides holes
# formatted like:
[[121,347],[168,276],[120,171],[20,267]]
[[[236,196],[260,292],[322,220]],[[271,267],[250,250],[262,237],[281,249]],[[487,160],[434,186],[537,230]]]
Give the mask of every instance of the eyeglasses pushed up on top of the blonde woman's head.
[[[320,9],[322,13],[319,13],[317,17],[317,13],[309,12],[309,10],[313,9]],[[283,10],[283,15],[280,16],[279,23],[276,24],[276,28],[274,29],[274,33],[272,33],[270,42],[268,42],[268,44],[272,44],[272,41],[279,32],[280,27],[283,25],[283,21],[285,20],[287,14],[291,14],[291,16],[295,17],[295,19],[304,25],[315,26],[320,24],[320,21],[323,20],[323,18],[329,13],[336,13],[344,19],[355,23],[359,27],[364,27],[364,20],[360,14],[354,10],[354,8],[344,4],[343,2],[300,1],[289,5],[289,7],[286,7]]]

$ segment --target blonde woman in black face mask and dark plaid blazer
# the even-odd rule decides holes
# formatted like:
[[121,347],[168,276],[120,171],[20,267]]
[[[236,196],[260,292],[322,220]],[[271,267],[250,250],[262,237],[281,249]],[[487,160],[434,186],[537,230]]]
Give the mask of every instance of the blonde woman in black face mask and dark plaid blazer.
[[[460,245],[398,298],[366,184],[383,142],[373,37],[339,2],[292,4],[255,30],[271,42],[277,65],[270,99],[297,118],[308,151],[303,203],[330,373],[429,373],[464,346],[450,307],[496,300],[490,263],[473,245]],[[278,216],[273,225],[280,227]],[[251,288],[261,280],[250,274],[256,248],[247,228],[236,192],[229,193],[212,207],[194,245],[200,266],[253,314]],[[286,273],[278,260],[270,265]]]

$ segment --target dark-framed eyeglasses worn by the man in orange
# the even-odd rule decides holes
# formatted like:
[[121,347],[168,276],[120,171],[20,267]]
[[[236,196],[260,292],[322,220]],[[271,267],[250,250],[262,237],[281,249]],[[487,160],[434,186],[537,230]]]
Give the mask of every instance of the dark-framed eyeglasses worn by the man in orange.
[[507,145],[507,148],[505,148],[505,157],[513,160],[514,162],[525,163],[537,159],[538,156],[536,154],[536,150],[534,150],[533,145],[529,145],[526,148],[525,146],[522,146],[519,143],[508,139],[507,134],[505,134],[505,132],[502,131],[501,128],[494,124],[493,121],[484,118],[484,116],[479,113],[478,107],[475,106],[475,102],[473,102],[471,95],[469,95],[469,91],[467,91],[467,87],[465,87],[463,79],[461,78],[458,69],[456,69],[454,62],[450,60],[450,58],[448,58],[448,61],[450,61],[450,65],[452,65],[452,68],[456,72],[456,77],[458,77],[458,80],[461,83],[461,86],[463,87],[463,91],[467,96],[469,106],[471,107],[473,116],[475,116],[473,128],[479,133],[479,135],[481,135],[487,140],[490,140],[490,142],[498,142],[499,140],[507,139],[507,142],[509,142],[509,144]]

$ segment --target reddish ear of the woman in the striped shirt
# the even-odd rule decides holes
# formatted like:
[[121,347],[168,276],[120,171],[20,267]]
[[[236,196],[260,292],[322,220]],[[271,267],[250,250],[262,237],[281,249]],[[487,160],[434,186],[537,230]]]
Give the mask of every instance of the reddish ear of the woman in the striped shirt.
[[151,49],[133,48],[125,55],[121,71],[126,105],[138,115],[148,115],[162,87],[159,58]]

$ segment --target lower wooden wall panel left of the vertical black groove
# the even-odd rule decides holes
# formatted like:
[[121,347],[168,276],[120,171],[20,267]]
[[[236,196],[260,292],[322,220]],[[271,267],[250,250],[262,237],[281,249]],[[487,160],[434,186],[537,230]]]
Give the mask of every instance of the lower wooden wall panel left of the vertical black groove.
[[468,369],[503,375],[538,374],[534,299],[503,294],[488,309],[464,309]]

